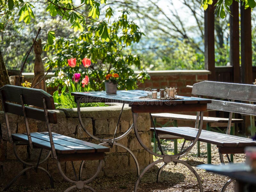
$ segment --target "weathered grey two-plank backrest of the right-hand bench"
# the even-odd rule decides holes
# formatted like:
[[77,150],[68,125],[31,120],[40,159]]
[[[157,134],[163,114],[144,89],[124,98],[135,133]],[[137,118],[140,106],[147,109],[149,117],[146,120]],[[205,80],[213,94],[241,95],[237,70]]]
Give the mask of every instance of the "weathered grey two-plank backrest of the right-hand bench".
[[212,99],[208,109],[256,115],[256,105],[245,102],[256,102],[255,85],[203,81],[193,85],[192,94]]

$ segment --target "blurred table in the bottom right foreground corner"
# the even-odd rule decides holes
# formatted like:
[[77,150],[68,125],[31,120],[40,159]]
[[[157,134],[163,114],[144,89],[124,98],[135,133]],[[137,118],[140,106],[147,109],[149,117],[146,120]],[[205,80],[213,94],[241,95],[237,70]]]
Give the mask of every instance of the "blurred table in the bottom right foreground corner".
[[[228,164],[228,165],[211,165],[202,164],[197,167],[205,169],[208,172],[217,173],[233,178],[236,180],[236,192],[253,192],[256,191],[256,174],[252,172],[251,167],[245,163]],[[224,186],[225,187],[225,186]],[[224,191],[226,188],[222,188]]]

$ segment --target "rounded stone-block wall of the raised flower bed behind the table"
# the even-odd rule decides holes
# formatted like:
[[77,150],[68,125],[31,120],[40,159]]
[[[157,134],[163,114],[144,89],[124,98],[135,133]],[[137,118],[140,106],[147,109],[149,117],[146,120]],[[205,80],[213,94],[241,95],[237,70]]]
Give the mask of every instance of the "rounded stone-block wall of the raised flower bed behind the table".
[[[88,107],[81,108],[81,115],[86,128],[95,136],[108,139],[113,136],[115,132],[117,117],[119,116],[122,106],[109,106],[109,107]],[[93,140],[82,129],[78,117],[76,108],[56,110],[58,117],[58,124],[52,124],[52,132],[67,135],[73,138],[86,140],[99,144],[96,140]],[[12,133],[26,132],[24,124],[24,118],[15,115],[9,115],[9,122]],[[7,136],[7,129],[4,120],[3,111],[0,112],[0,182],[10,181],[20,170],[22,170],[22,163],[20,163],[14,153],[12,144],[10,144]],[[132,125],[132,112],[128,106],[124,107],[124,111],[121,117],[119,127],[117,129],[117,136],[124,133]],[[47,128],[43,122],[29,119],[29,126],[31,132],[44,132]],[[150,119],[148,114],[139,114],[138,127],[142,140],[150,147],[151,146],[151,133],[149,131]],[[134,132],[132,131],[127,137],[118,141],[124,146],[128,147],[138,159],[140,170],[143,170],[150,162],[153,161],[153,157],[146,152],[137,141]],[[39,149],[33,149],[28,153],[27,146],[16,146],[18,154],[21,159],[24,160],[36,160],[36,153],[39,153]],[[46,152],[44,152],[45,155]],[[29,155],[30,154],[30,155]],[[78,174],[80,162],[75,162],[75,167]],[[98,161],[87,161],[84,164],[84,177],[88,174],[92,174],[97,169]],[[54,159],[49,158],[42,167],[47,169],[53,176],[54,180],[63,180],[62,176],[58,172],[56,162]],[[73,170],[70,162],[62,162],[62,168],[67,175],[74,179]],[[114,175],[124,174],[126,172],[136,172],[136,165],[132,156],[127,153],[123,148],[114,146],[105,155],[102,171],[100,175]],[[44,172],[36,174],[34,171],[28,171],[26,175],[22,176],[20,182],[25,179],[29,179],[33,182],[48,182],[48,177]]]

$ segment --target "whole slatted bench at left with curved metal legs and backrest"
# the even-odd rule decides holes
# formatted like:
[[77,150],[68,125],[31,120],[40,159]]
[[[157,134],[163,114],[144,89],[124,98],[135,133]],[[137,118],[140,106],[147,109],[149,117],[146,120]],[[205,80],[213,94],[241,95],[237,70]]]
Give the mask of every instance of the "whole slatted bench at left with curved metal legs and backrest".
[[[39,166],[45,162],[50,155],[52,155],[52,158],[56,159],[58,169],[64,179],[75,184],[65,191],[72,190],[73,188],[88,188],[94,191],[94,189],[87,186],[86,183],[90,182],[100,172],[104,153],[108,152],[109,148],[52,132],[51,124],[57,123],[57,114],[55,111],[51,111],[51,109],[55,109],[52,96],[43,90],[5,85],[0,89],[0,95],[3,104],[8,137],[9,141],[13,144],[14,154],[21,163],[28,166],[18,173],[18,175],[4,188],[4,190],[7,190],[24,172],[29,169],[35,169],[36,172],[37,169],[40,169],[46,172],[53,187],[51,174],[43,167]],[[11,133],[8,113],[24,117],[26,133]],[[47,125],[48,132],[30,132],[28,118],[44,121]],[[27,163],[23,161],[16,151],[16,145],[28,145],[30,149],[40,148],[41,151],[37,158],[38,161],[35,163]],[[40,160],[43,149],[49,151],[49,153],[44,159]],[[61,169],[61,161],[71,161],[73,165],[73,161],[84,160],[100,160],[97,172],[89,180],[81,180],[81,170],[83,167],[80,167],[79,179],[76,181],[69,179]]]

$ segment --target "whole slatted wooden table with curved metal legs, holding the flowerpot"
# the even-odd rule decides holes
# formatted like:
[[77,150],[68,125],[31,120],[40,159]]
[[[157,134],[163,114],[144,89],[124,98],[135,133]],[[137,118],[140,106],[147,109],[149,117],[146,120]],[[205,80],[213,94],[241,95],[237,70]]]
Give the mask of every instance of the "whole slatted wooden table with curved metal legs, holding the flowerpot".
[[[79,106],[80,102],[106,102],[106,103],[123,103],[129,104],[129,106],[132,108],[132,115],[133,115],[133,128],[135,135],[140,142],[140,145],[147,150],[149,153],[151,153],[154,156],[158,156],[161,159],[149,164],[143,172],[139,175],[138,180],[135,184],[134,191],[137,191],[139,182],[144,175],[145,172],[148,171],[153,165],[158,164],[160,162],[164,162],[163,165],[170,163],[170,162],[178,162],[181,164],[184,164],[190,169],[196,176],[196,179],[199,184],[200,191],[203,191],[202,184],[201,184],[201,178],[198,176],[196,171],[185,161],[180,160],[180,157],[184,157],[188,154],[188,152],[191,150],[191,148],[196,144],[196,141],[198,140],[203,123],[200,122],[203,121],[203,111],[207,108],[207,103],[210,103],[211,100],[205,100],[200,98],[191,98],[191,97],[183,97],[183,96],[177,96],[176,99],[173,100],[155,100],[155,99],[145,99],[147,96],[147,91],[142,90],[128,90],[128,91],[117,91],[116,94],[110,94],[106,92],[74,92],[72,93],[73,96],[75,96],[75,101],[77,102],[77,107]],[[144,97],[144,98],[143,98]],[[78,109],[79,111],[79,109]],[[159,112],[185,112],[185,111],[197,111],[197,118],[196,118],[196,128],[198,128],[198,133],[196,135],[196,139],[191,142],[188,148],[184,149],[178,154],[175,155],[166,155],[164,151],[162,150],[162,147],[160,145],[160,141],[156,134],[156,139],[158,143],[158,148],[161,151],[161,154],[156,154],[152,152],[151,148],[148,148],[144,143],[142,142],[140,135],[138,133],[138,127],[137,127],[137,118],[138,113],[159,113]],[[79,114],[78,114],[79,116]],[[80,118],[80,117],[79,117]],[[120,119],[120,117],[119,117]],[[153,118],[151,116],[151,120],[153,122]],[[199,126],[200,124],[200,126]],[[83,127],[83,125],[82,125]],[[155,127],[154,127],[155,128]],[[129,133],[129,132],[128,132]],[[128,134],[127,133],[127,134]],[[91,135],[90,135],[91,136]],[[92,136],[94,137],[94,136]],[[117,138],[116,138],[117,139]],[[113,138],[113,143],[116,140],[115,135]],[[164,167],[164,166],[162,166]],[[138,166],[137,166],[138,168]],[[161,172],[161,171],[160,171]]]

